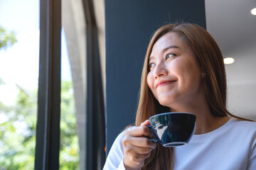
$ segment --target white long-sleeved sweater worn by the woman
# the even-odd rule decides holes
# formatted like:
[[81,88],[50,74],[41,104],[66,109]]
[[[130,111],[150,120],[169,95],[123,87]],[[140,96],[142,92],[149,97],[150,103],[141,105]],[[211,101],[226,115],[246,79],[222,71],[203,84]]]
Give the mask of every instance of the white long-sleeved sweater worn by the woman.
[[[114,141],[104,170],[124,169],[123,138],[124,132]],[[256,170],[256,123],[231,118],[212,132],[193,135],[188,145],[175,148],[175,157],[175,170]]]

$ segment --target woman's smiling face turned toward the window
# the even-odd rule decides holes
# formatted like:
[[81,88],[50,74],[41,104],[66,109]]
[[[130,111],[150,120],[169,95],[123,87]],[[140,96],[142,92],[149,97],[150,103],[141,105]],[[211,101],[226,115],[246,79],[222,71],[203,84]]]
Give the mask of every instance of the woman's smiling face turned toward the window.
[[156,41],[149,68],[147,84],[161,105],[179,108],[204,97],[198,61],[177,33],[166,33]]

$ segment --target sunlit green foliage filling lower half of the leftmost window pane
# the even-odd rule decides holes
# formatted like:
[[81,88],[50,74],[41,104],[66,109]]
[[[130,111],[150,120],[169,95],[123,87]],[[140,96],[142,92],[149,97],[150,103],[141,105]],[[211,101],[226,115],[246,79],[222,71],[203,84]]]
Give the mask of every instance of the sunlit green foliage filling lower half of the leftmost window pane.
[[20,89],[14,106],[0,106],[0,167],[33,169],[36,145],[36,91]]

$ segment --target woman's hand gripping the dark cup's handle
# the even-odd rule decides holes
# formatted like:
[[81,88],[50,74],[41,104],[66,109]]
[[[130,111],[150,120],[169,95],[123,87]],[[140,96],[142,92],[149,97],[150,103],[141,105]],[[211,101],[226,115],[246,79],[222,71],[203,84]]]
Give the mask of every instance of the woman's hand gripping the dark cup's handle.
[[137,128],[128,130],[124,134],[122,143],[124,146],[124,166],[126,169],[142,168],[144,160],[149,157],[151,150],[156,148],[156,143],[146,138],[152,136],[151,130],[146,125],[149,125],[149,120],[146,120]]

